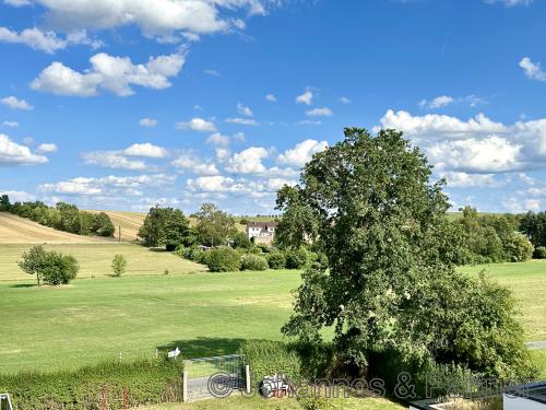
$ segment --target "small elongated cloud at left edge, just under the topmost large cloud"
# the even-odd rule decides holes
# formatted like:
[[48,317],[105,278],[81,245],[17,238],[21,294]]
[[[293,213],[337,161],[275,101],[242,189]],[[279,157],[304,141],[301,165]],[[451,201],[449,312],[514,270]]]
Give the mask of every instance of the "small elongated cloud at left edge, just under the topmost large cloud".
[[54,54],[71,45],[88,45],[94,49],[102,46],[100,42],[88,38],[85,31],[73,32],[61,38],[52,31],[43,32],[37,27],[25,28],[21,33],[0,27],[0,43],[24,44],[32,49],[48,54]]

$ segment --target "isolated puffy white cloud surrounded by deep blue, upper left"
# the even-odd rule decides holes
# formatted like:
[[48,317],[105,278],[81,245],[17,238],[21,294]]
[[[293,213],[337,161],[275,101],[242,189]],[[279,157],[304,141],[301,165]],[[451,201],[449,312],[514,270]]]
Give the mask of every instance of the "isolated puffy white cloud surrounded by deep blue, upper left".
[[99,90],[119,96],[134,94],[131,85],[153,90],[169,87],[185,63],[183,54],[151,57],[146,63],[133,65],[129,57],[99,52],[91,57],[91,68],[83,73],[55,61],[31,83],[33,90],[59,95],[93,96]]

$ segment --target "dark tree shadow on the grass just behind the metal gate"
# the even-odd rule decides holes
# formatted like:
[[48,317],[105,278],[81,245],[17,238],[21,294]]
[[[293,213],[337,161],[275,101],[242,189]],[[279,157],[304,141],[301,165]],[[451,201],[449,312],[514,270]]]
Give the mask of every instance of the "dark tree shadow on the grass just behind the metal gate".
[[175,340],[165,345],[158,345],[157,350],[167,352],[180,349],[183,359],[211,358],[224,354],[237,353],[239,345],[246,339],[227,338],[197,338],[191,340]]

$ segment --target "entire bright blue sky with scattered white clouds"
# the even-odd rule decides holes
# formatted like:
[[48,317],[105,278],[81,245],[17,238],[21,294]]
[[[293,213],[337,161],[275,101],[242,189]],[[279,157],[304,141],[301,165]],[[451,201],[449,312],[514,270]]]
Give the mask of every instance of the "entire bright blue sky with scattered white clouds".
[[0,191],[272,213],[358,126],[403,130],[455,209],[542,210],[545,19],[538,0],[0,0]]

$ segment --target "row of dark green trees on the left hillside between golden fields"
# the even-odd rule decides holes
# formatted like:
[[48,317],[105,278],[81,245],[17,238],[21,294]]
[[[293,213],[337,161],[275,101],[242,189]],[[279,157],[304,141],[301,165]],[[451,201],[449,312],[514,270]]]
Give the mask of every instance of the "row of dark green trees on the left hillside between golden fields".
[[0,212],[11,212],[40,225],[78,235],[112,236],[115,231],[106,213],[81,211],[76,206],[66,202],[58,202],[55,207],[48,207],[41,201],[11,203],[10,198],[2,195]]

